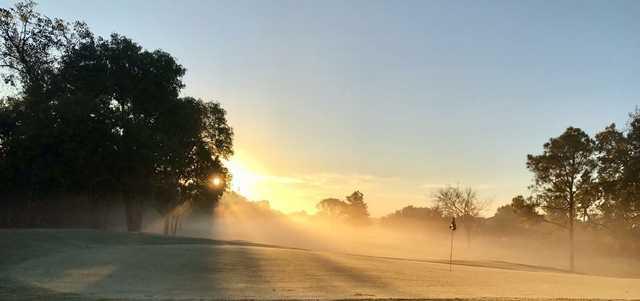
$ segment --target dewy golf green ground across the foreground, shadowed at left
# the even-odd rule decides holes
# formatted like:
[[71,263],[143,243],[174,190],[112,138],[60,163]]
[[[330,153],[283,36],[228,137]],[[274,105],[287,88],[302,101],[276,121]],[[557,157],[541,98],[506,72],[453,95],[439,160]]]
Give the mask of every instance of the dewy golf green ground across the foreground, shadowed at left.
[[640,279],[88,230],[0,230],[0,300],[640,299]]

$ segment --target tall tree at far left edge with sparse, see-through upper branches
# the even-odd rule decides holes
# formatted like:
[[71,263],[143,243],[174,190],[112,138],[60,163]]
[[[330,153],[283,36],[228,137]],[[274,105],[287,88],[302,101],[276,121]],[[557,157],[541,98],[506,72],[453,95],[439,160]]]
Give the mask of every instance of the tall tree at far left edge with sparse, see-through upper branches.
[[[69,133],[55,109],[56,75],[60,57],[92,38],[84,23],[42,16],[32,1],[0,9],[2,78],[5,88],[18,90],[0,101],[0,198],[13,209],[46,211],[43,207],[49,204],[42,197],[55,199],[61,191],[75,188],[76,177],[66,172],[72,151],[66,157],[59,152],[58,138]],[[23,216],[23,222],[35,220],[29,214]]]

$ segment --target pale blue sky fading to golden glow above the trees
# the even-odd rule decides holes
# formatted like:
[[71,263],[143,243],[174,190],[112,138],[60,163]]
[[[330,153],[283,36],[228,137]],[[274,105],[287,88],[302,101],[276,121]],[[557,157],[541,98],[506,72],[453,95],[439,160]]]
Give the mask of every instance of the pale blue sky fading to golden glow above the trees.
[[183,94],[228,111],[232,188],[285,212],[358,189],[381,216],[459,185],[491,215],[530,193],[527,154],[568,126],[624,125],[639,103],[638,1],[57,0],[40,10],[175,56]]

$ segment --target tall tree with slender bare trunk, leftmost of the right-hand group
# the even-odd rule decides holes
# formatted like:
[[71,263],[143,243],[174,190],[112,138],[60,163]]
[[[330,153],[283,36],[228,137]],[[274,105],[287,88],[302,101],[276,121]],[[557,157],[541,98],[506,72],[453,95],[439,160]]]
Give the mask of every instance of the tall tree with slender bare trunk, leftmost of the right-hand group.
[[540,155],[527,155],[527,168],[534,174],[534,189],[542,208],[551,215],[547,220],[568,229],[569,265],[573,271],[575,221],[578,204],[593,204],[583,195],[592,182],[595,161],[594,143],[581,129],[569,127],[562,135],[543,145]]

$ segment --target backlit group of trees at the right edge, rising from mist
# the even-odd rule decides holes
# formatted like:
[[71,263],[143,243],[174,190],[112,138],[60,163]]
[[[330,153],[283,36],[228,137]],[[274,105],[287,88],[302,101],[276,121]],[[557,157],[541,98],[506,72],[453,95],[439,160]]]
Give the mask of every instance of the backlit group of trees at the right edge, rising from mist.
[[572,270],[576,223],[620,240],[640,238],[640,113],[629,116],[626,129],[611,124],[595,137],[569,127],[542,154],[527,156],[535,183],[526,203],[543,210],[543,221],[568,230]]

